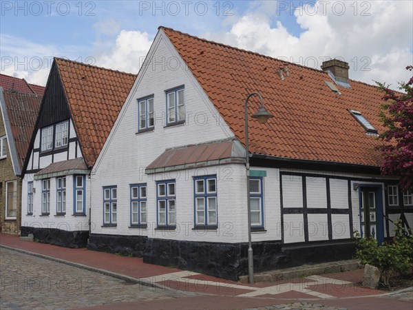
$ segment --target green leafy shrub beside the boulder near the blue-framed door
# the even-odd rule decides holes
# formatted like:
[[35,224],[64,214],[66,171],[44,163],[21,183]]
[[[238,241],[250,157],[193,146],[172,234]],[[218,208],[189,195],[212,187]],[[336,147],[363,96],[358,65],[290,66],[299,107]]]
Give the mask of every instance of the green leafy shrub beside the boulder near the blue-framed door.
[[362,264],[379,268],[381,281],[386,287],[390,286],[390,278],[394,273],[406,276],[413,267],[413,235],[409,235],[401,225],[401,220],[395,223],[392,242],[383,242],[381,246],[371,236],[359,238],[356,232],[356,258]]

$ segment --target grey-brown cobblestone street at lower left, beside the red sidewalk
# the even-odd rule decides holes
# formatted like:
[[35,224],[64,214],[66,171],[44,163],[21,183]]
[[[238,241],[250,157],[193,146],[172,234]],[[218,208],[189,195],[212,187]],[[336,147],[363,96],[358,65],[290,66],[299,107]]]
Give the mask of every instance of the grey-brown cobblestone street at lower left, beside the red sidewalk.
[[8,249],[0,249],[0,262],[0,309],[3,310],[74,309],[193,296],[193,293],[125,282]]

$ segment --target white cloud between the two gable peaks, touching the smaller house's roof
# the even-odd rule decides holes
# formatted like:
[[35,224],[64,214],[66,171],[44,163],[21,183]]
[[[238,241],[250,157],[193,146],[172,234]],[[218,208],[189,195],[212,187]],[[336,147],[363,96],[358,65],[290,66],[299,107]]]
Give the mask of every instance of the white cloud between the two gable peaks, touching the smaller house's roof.
[[147,32],[122,30],[112,50],[98,56],[96,65],[137,74],[151,43]]

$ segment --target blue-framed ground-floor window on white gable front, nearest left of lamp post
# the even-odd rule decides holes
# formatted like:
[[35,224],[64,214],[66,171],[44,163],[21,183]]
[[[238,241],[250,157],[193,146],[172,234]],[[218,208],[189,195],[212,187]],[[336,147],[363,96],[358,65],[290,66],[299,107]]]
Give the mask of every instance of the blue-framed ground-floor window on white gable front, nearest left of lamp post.
[[216,227],[217,216],[217,178],[200,176],[193,180],[195,191],[195,227]]

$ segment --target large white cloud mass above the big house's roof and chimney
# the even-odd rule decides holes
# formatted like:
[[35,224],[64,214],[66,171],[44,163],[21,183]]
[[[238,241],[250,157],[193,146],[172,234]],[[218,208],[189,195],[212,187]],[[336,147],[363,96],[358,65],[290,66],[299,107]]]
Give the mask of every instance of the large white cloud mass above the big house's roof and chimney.
[[[350,79],[366,83],[385,81],[396,87],[397,81],[410,78],[404,69],[413,59],[410,1],[306,4],[293,11],[302,30],[299,35],[274,18],[281,13],[274,8],[282,6],[273,2],[271,10],[268,2],[251,6],[243,16],[232,20],[229,31],[205,36],[318,69],[324,57],[341,57],[350,65]],[[275,26],[271,26],[274,22]]]

